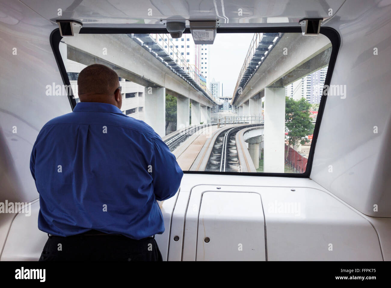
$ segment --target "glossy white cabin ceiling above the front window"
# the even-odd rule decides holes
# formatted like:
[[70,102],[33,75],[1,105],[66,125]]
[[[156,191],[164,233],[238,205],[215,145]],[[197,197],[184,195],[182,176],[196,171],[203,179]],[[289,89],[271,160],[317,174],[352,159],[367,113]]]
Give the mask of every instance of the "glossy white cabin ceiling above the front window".
[[[74,19],[84,27],[164,27],[161,20],[220,20],[235,24],[297,25],[303,17],[330,18],[344,0],[21,0],[48,20]],[[58,15],[61,9],[62,16]],[[187,23],[188,24],[188,23]],[[231,24],[231,25],[230,25]]]

